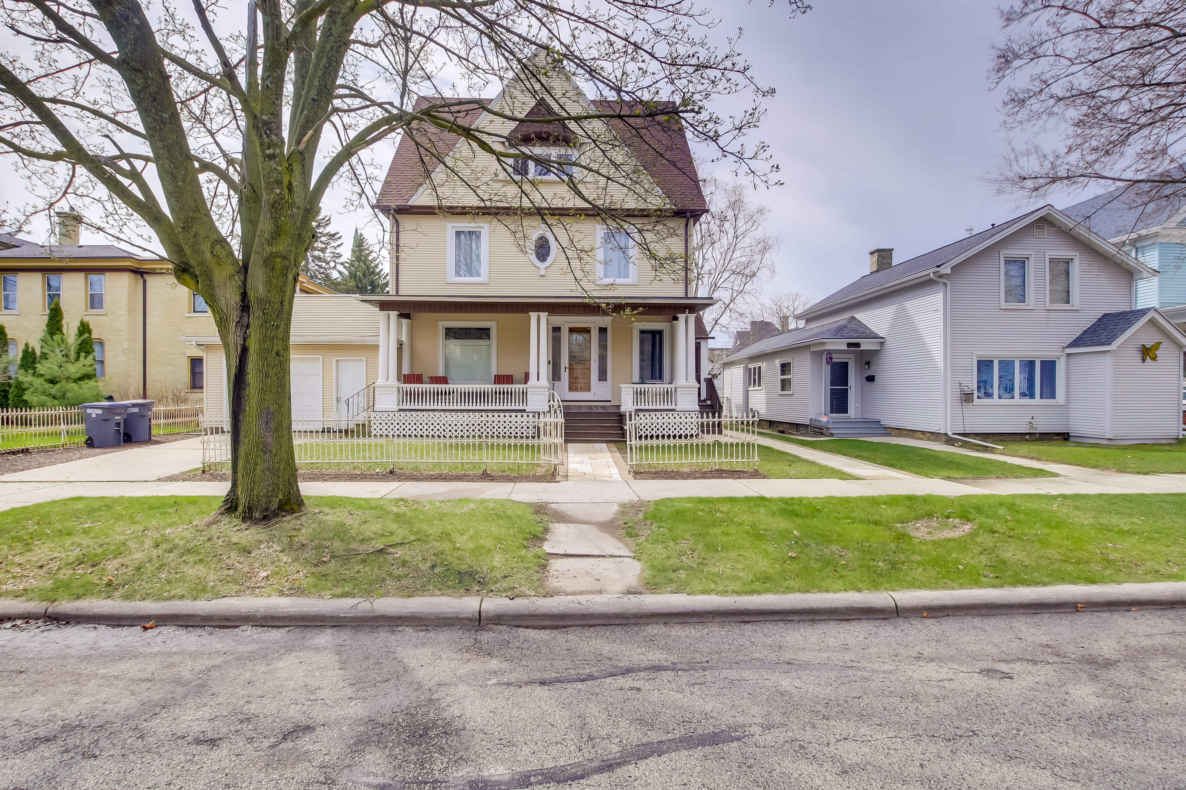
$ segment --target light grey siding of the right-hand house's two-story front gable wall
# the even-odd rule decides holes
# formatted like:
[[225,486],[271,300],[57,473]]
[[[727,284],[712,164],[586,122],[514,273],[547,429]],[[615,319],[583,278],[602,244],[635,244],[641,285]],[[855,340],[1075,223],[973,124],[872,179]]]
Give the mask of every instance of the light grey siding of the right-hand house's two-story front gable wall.
[[[1032,308],[1001,307],[1002,251],[1032,256]],[[1047,309],[1048,256],[1078,257],[1078,309]],[[1031,418],[1039,431],[1069,430],[1065,386],[1058,403],[980,402],[964,405],[961,413],[959,385],[975,387],[976,354],[1063,359],[1063,347],[1101,314],[1130,309],[1131,275],[1063,231],[1048,227],[1046,238],[1034,238],[1032,226],[1027,225],[956,264],[948,280],[951,282],[951,430],[957,433],[1022,433]],[[879,327],[874,328],[880,332]],[[881,334],[890,336],[885,332]],[[1061,365],[1060,378],[1065,381],[1065,360]]]

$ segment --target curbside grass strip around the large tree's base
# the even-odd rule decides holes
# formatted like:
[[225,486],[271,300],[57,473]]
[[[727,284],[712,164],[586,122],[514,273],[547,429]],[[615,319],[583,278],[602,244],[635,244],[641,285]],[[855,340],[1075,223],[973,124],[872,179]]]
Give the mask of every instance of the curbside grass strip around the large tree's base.
[[[222,596],[540,595],[519,502],[310,497],[267,527],[208,519],[210,496],[77,497],[0,513],[0,596],[30,600]],[[371,550],[389,546],[384,551]],[[368,553],[369,552],[369,553]]]

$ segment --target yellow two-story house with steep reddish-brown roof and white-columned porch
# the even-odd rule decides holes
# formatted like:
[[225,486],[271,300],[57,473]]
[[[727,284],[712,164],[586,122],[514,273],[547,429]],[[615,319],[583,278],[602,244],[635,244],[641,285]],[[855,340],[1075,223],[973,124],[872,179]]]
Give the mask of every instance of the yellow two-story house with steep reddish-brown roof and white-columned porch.
[[706,205],[678,120],[531,121],[632,111],[560,73],[417,107],[441,101],[470,102],[459,123],[529,159],[435,127],[401,140],[378,199],[390,294],[357,297],[380,310],[374,409],[542,411],[554,392],[566,422],[697,410],[708,365],[696,316],[714,300],[691,290]]

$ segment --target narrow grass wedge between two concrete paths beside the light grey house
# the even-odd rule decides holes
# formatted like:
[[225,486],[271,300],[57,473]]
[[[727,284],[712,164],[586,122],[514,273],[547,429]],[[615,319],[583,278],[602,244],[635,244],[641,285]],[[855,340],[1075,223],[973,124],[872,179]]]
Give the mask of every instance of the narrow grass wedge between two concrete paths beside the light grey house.
[[862,439],[801,439],[795,436],[759,431],[773,439],[809,447],[815,450],[835,452],[836,455],[860,458],[891,469],[901,469],[923,477],[943,477],[946,480],[967,480],[971,477],[1056,477],[1045,469],[1021,467],[1008,461],[996,461],[991,457],[931,450],[910,447],[907,444],[888,444],[886,442],[865,442]]

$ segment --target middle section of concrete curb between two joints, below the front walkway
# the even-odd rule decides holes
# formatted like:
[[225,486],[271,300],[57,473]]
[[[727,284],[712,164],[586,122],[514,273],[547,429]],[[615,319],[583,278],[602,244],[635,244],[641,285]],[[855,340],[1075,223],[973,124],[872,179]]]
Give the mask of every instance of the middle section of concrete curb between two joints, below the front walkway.
[[568,628],[642,623],[747,623],[763,619],[885,619],[897,617],[884,592],[801,592],[783,596],[556,596],[486,598],[483,625]]

